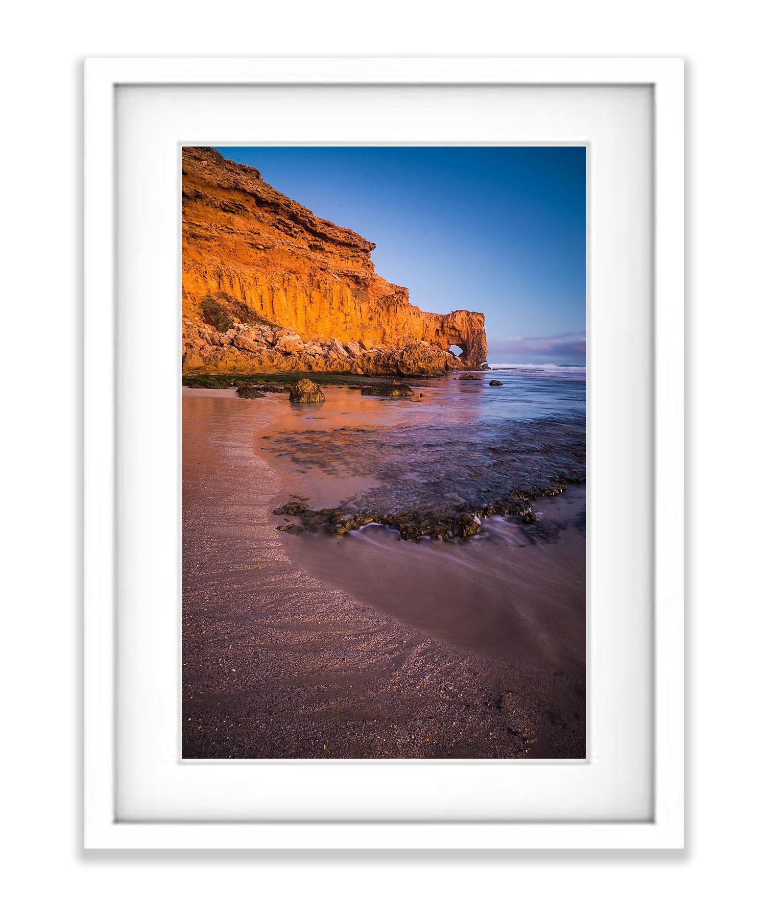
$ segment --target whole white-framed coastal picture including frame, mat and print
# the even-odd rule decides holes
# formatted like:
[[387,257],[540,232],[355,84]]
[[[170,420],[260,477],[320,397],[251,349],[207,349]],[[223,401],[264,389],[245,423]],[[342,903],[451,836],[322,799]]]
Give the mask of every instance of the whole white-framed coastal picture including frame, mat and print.
[[683,845],[682,74],[86,62],[86,847]]

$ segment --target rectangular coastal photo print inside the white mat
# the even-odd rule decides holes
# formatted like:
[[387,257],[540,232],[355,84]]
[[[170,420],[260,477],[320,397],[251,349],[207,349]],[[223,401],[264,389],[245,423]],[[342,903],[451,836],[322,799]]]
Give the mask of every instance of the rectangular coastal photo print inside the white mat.
[[184,759],[586,757],[586,148],[180,157]]

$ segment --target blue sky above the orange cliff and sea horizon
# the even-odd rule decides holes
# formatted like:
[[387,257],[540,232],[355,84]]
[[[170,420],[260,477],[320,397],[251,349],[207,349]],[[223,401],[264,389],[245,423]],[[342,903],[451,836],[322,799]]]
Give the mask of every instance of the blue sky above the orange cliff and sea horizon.
[[423,310],[485,314],[490,362],[585,363],[584,147],[218,147],[376,244]]

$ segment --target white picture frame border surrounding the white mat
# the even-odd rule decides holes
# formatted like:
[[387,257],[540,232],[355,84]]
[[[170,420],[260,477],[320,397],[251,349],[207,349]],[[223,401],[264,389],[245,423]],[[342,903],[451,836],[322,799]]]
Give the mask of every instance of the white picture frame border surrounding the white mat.
[[[126,86],[646,86],[653,137],[652,807],[641,820],[124,820],[117,802],[120,544],[116,100]],[[678,59],[90,59],[85,101],[85,845],[680,848],[683,845],[683,66]],[[192,139],[189,139],[192,140]],[[193,139],[197,140],[197,139]],[[306,140],[311,140],[307,138]],[[338,140],[342,140],[339,138]],[[541,138],[543,141],[544,138]],[[661,509],[661,513],[658,513]],[[672,526],[667,521],[673,521]],[[176,658],[167,662],[172,668]],[[561,766],[552,766],[560,768]]]

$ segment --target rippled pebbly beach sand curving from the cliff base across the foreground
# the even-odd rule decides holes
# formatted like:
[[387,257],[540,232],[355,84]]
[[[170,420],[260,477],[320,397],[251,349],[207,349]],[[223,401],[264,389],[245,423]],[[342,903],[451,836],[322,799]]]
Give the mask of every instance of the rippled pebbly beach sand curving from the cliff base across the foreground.
[[232,396],[183,399],[183,756],[584,756],[584,687],[439,641],[292,561],[271,513],[287,485],[258,444],[275,407]]

